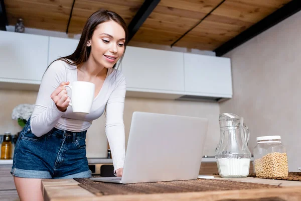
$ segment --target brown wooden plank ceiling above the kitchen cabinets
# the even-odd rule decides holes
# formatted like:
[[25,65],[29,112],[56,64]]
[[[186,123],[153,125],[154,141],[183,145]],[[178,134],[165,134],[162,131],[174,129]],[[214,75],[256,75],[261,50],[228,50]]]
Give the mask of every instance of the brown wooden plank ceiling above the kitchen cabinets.
[[[174,44],[214,50],[291,0],[226,0]],[[23,18],[26,27],[66,32],[73,0],[4,0],[10,25]],[[80,34],[98,9],[111,10],[127,25],[143,0],[76,0],[68,33]],[[161,0],[131,41],[172,45],[222,0]],[[129,43],[130,45],[130,43]]]

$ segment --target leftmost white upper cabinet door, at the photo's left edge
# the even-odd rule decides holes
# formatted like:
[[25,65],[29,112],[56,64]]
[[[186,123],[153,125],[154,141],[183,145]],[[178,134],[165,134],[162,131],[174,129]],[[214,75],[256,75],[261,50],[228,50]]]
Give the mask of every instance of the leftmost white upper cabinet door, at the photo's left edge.
[[47,67],[48,41],[48,36],[0,31],[0,78],[39,83]]

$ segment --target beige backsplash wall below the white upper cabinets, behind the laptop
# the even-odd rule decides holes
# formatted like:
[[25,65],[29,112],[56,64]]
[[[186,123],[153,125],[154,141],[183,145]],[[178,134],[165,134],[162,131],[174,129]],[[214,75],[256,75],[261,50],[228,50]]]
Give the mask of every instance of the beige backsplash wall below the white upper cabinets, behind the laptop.
[[[13,135],[21,131],[22,128],[17,121],[12,120],[13,109],[19,104],[35,104],[37,94],[37,91],[0,90],[0,135],[4,135],[5,131],[10,131]],[[126,97],[123,115],[126,144],[134,111],[208,118],[209,126],[204,155],[214,155],[219,139],[218,103]],[[107,156],[107,139],[104,126],[105,119],[102,116],[94,120],[88,129],[87,157]]]

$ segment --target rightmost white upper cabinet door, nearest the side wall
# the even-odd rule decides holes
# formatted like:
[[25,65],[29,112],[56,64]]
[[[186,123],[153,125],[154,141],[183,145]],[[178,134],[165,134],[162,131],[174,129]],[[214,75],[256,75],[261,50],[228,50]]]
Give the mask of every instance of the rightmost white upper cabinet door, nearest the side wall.
[[185,91],[232,97],[229,58],[184,53]]

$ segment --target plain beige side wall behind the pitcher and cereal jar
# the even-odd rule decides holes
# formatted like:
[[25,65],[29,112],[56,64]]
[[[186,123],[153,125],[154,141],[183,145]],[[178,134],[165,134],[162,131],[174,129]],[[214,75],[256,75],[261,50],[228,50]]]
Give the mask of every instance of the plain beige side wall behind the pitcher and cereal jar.
[[256,137],[280,135],[289,171],[301,167],[301,12],[232,50],[233,98],[220,112],[241,115]]

